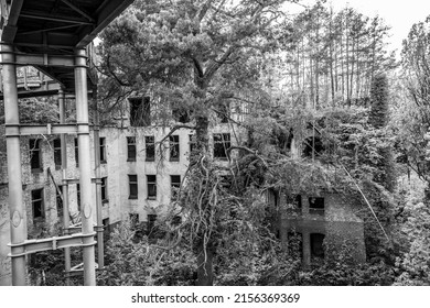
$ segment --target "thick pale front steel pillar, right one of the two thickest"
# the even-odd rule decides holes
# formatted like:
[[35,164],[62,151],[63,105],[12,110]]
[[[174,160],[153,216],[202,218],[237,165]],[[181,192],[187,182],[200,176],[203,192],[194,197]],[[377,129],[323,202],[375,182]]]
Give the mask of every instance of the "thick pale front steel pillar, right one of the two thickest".
[[[93,216],[95,207],[92,206],[92,164],[88,124],[88,94],[87,94],[87,57],[84,48],[76,50],[75,55],[75,88],[76,88],[76,122],[78,125],[77,141],[79,146],[80,173],[80,202],[82,202],[82,232],[94,232]],[[84,245],[84,285],[96,285],[96,266],[94,241],[86,238]]]

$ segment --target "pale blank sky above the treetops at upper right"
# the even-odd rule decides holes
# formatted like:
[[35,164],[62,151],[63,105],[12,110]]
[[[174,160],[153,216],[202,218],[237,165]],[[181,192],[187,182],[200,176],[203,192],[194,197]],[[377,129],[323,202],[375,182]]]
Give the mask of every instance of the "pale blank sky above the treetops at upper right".
[[[301,2],[312,4],[315,1]],[[430,0],[327,0],[327,3],[332,3],[335,11],[350,6],[370,18],[378,14],[391,26],[389,43],[391,50],[398,50],[398,55],[412,24],[430,15]]]

